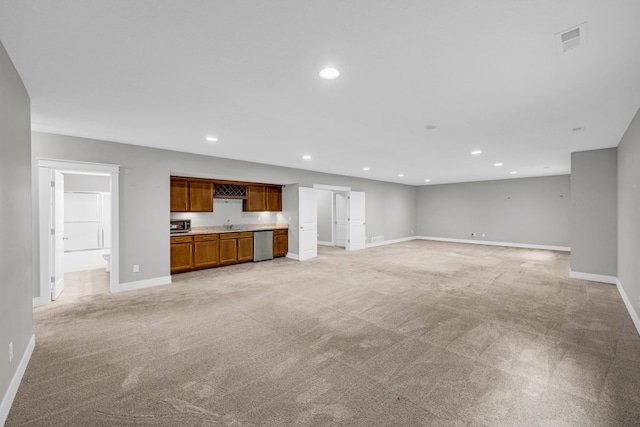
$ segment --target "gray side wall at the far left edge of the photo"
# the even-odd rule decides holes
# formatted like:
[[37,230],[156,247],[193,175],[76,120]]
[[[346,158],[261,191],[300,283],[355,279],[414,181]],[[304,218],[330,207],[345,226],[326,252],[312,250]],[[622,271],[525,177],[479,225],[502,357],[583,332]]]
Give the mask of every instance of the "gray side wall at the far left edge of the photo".
[[0,402],[33,335],[30,138],[29,95],[0,43]]

